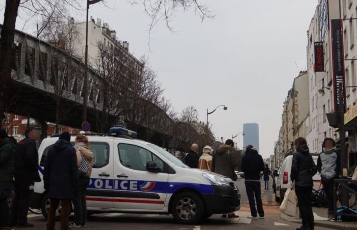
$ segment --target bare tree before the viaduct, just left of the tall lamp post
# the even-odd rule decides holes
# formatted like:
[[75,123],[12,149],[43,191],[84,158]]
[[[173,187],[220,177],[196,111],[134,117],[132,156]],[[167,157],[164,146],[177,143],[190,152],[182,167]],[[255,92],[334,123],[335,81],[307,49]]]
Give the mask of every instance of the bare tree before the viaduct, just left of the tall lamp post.
[[[47,23],[47,21],[46,21]],[[49,84],[53,86],[56,101],[56,133],[59,123],[65,118],[70,108],[65,107],[64,98],[77,97],[78,82],[83,74],[83,65],[76,60],[74,44],[79,33],[72,21],[58,19],[56,23],[49,23],[42,30],[41,38],[53,47],[50,49]],[[74,98],[73,100],[76,100]]]

